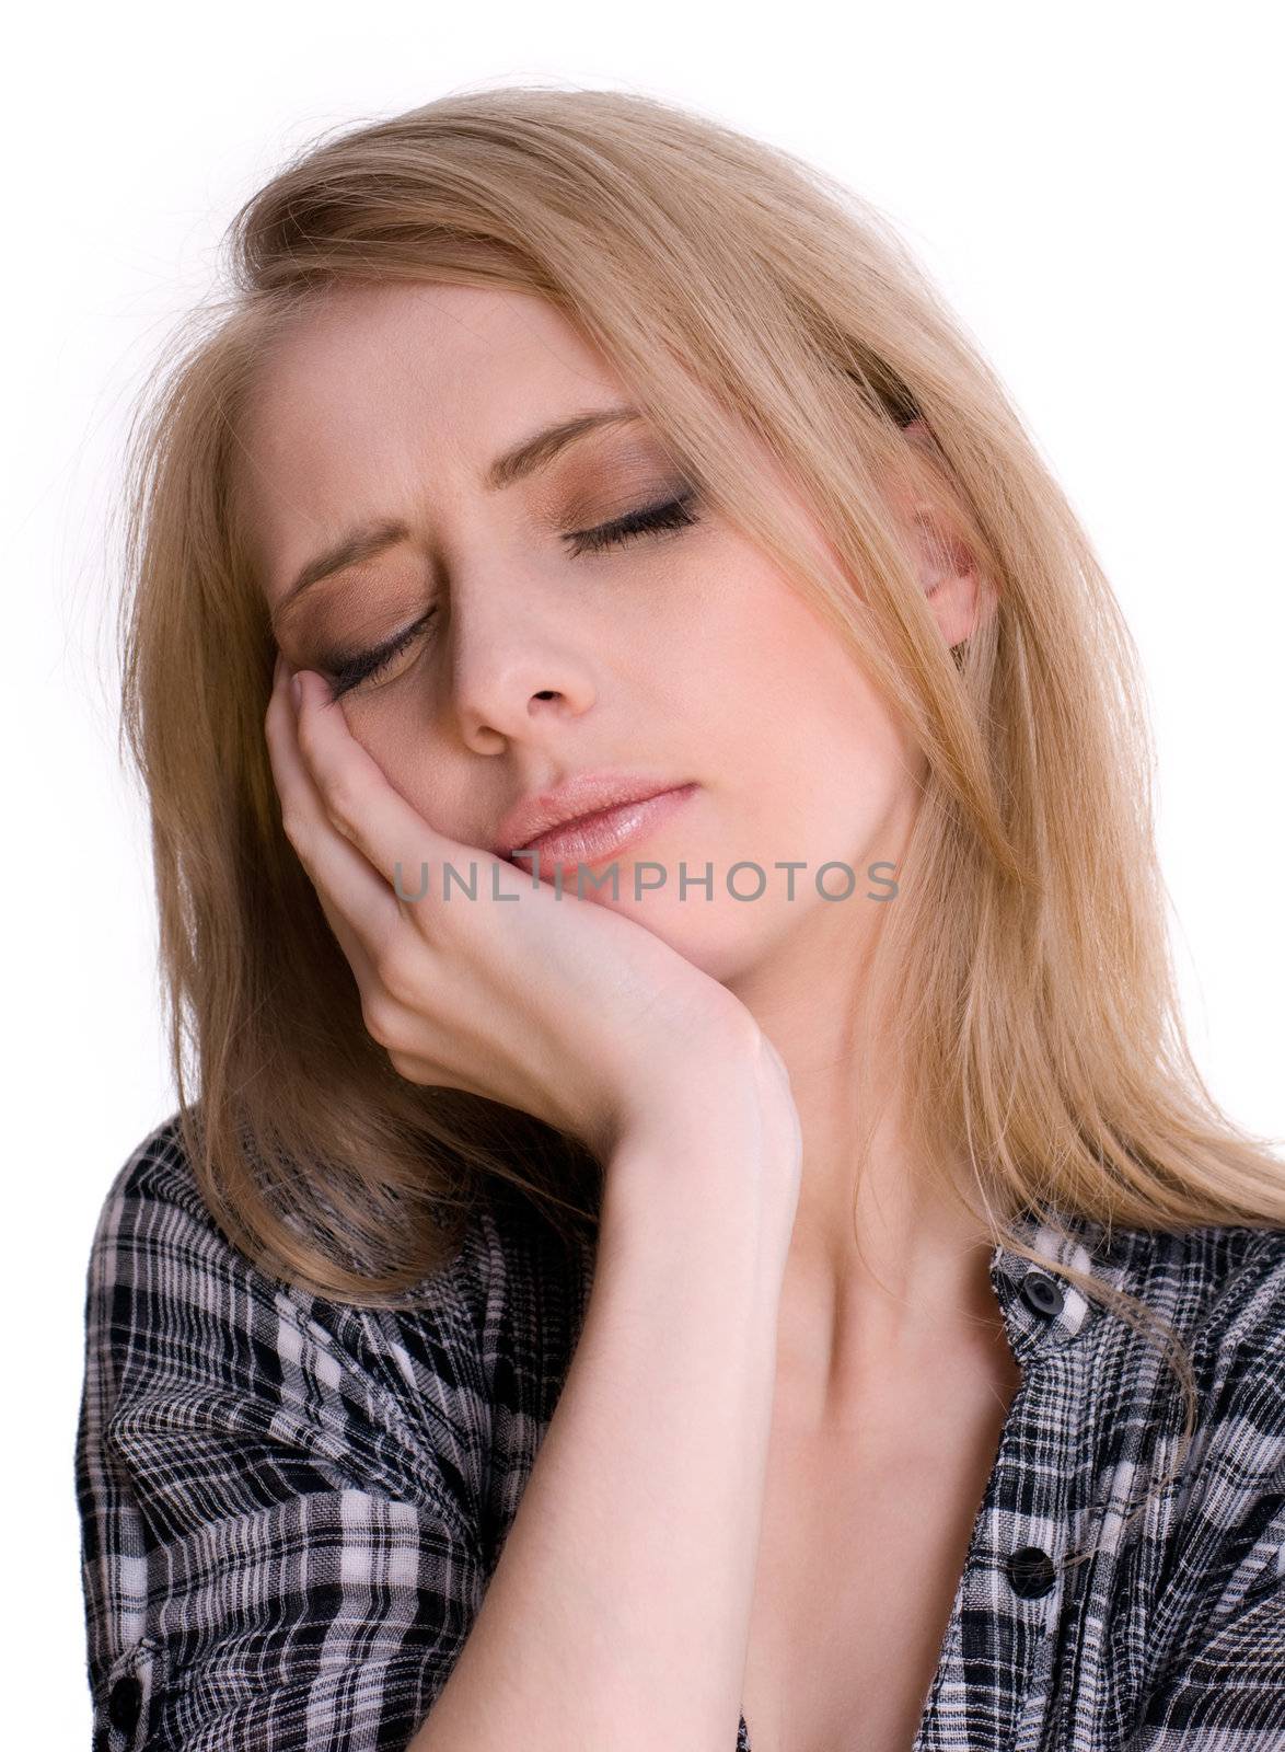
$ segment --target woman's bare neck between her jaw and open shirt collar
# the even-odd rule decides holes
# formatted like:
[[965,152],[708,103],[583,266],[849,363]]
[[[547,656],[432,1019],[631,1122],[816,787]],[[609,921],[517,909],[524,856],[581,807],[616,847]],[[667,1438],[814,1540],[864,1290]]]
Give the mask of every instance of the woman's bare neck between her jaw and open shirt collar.
[[893,1382],[928,1382],[942,1368],[986,1379],[1012,1367],[989,1239],[951,1193],[963,1158],[930,1174],[909,1146],[867,981],[870,948],[823,916],[811,946],[795,936],[737,986],[790,1070],[804,1141],[779,1318],[781,1403],[804,1423],[842,1419]]

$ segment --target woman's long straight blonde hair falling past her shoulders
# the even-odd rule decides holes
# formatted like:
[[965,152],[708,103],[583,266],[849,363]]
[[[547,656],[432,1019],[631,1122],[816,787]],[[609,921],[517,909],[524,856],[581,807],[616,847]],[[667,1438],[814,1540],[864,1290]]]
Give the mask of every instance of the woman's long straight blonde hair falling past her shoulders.
[[[970,1163],[944,1190],[1031,1260],[1010,1219],[1035,1207],[1099,1221],[1108,1242],[1120,1225],[1285,1225],[1280,1162],[1215,1107],[1185,1041],[1110,585],[877,210],[651,96],[495,88],[313,144],[240,210],[229,251],[229,296],[191,319],[131,449],[123,724],[151,799],[184,1141],[247,1254],[387,1305],[453,1251],[483,1184],[508,1181],[567,1239],[592,1232],[600,1191],[576,1139],[392,1072],[282,834],[263,738],[275,645],[231,491],[238,410],[273,338],[329,289],[394,280],[550,300],[912,725],[928,778],[877,957],[905,995],[884,1025],[912,1148],[935,1163],[963,1146]],[[996,589],[956,650],[881,492],[910,468],[916,415]],[[777,526],[746,429],[833,564]],[[1040,1263],[1173,1339],[1138,1298]],[[1169,1349],[1190,1438],[1190,1365]]]

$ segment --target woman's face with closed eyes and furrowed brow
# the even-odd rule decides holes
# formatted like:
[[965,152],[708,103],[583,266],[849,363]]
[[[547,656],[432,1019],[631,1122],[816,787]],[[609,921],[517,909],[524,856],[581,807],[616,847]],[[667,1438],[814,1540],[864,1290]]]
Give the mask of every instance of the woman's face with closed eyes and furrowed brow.
[[[334,682],[336,657],[408,634],[340,697],[350,732],[432,827],[490,850],[520,799],[585,771],[693,787],[634,844],[585,865],[600,880],[614,864],[614,895],[609,881],[583,894],[730,983],[800,930],[851,946],[874,927],[895,871],[867,867],[896,864],[921,767],[835,634],[706,505],[599,552],[572,540],[688,485],[641,419],[488,482],[543,427],[628,399],[543,300],[343,289],[264,364],[238,485],[294,668]],[[781,506],[823,552],[784,482]],[[298,587],[327,550],[383,526],[401,534]],[[732,871],[741,860],[763,876]],[[856,872],[854,885],[844,871],[821,878],[828,894],[851,887],[846,899],[818,892],[830,860]],[[664,881],[637,892],[639,864]],[[406,869],[413,892],[413,848]],[[735,899],[728,872],[755,897]],[[553,880],[548,858],[541,878]],[[513,890],[527,880],[515,871]],[[576,865],[560,880],[574,894]]]

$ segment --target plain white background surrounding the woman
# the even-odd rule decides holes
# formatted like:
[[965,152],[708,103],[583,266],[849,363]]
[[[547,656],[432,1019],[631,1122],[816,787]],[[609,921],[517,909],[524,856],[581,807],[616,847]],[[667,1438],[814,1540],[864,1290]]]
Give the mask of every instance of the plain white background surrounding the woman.
[[[959,4],[54,11],[9,39],[11,1745],[88,1747],[72,1451],[89,1235],[175,1106],[107,519],[131,398],[305,138],[527,77],[672,96],[881,205],[1113,578],[1157,738],[1197,1062],[1280,1139],[1280,63],[1271,9]],[[28,18],[30,18],[28,11]]]

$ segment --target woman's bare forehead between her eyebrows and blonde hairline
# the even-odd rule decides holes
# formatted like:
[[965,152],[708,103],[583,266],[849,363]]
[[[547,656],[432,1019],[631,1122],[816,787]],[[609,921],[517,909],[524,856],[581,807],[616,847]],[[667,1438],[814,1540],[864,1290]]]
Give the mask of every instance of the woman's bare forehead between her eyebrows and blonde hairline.
[[621,396],[543,298],[343,287],[273,342],[247,392],[235,491],[250,548],[277,575],[340,522],[445,503],[544,417]]

